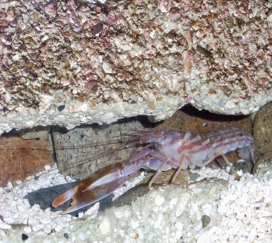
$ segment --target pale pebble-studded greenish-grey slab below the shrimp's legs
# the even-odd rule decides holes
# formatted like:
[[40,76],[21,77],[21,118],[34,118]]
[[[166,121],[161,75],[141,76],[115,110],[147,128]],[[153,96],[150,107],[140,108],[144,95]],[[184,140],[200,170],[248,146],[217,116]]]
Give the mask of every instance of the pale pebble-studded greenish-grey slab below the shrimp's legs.
[[[69,240],[73,241],[75,235],[85,232],[87,242],[160,242],[169,239],[172,242],[182,242],[181,237],[191,233],[191,241],[196,242],[202,228],[203,215],[211,217],[212,222],[207,226],[210,229],[216,225],[223,216],[218,215],[217,204],[220,192],[227,190],[225,180],[214,178],[191,184],[189,188],[180,186],[160,186],[157,190],[147,193],[137,199],[131,206],[110,208],[97,219],[73,220],[73,225],[68,229]],[[200,205],[198,206],[197,204]],[[192,205],[199,208],[197,213],[192,210]],[[208,205],[208,208],[207,208]],[[20,231],[11,229],[10,242],[19,242]],[[203,232],[201,230],[200,232]],[[42,235],[32,232],[29,234],[33,242],[58,242],[65,241],[63,232]],[[129,237],[128,237],[129,235]],[[177,240],[177,237],[180,239]],[[4,238],[0,236],[0,239]],[[17,240],[17,241],[16,241]],[[127,240],[127,241],[126,241]]]

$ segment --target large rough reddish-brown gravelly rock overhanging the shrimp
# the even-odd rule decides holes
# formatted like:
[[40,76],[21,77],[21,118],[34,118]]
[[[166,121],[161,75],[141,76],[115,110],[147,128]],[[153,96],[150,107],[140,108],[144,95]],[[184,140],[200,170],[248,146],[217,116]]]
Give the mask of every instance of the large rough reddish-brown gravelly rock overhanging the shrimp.
[[271,2],[1,1],[0,132],[272,99]]

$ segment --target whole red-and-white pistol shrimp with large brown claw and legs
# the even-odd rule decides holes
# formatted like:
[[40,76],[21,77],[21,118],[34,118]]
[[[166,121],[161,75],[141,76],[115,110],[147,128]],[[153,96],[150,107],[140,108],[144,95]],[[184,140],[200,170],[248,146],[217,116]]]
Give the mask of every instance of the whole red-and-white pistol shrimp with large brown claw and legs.
[[[72,206],[61,212],[65,214],[90,205],[114,192],[140,168],[156,171],[149,183],[151,189],[156,177],[171,168],[176,169],[172,182],[181,170],[203,167],[218,156],[222,156],[232,168],[225,157],[230,151],[238,150],[240,158],[251,160],[254,164],[256,162],[254,139],[248,131],[239,127],[225,127],[206,135],[174,130],[139,131],[117,146],[116,150],[131,144],[143,147],[136,148],[128,159],[97,170],[80,184],[58,196],[52,206],[58,207],[72,198]],[[232,170],[237,175],[233,168]]]

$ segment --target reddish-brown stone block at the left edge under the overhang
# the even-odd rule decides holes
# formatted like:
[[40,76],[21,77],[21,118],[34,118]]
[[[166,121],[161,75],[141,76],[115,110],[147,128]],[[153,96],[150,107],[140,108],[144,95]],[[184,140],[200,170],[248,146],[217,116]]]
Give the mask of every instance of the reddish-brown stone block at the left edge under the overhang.
[[44,165],[54,165],[51,136],[42,139],[21,139],[18,136],[0,137],[0,186],[8,181],[24,180],[44,170]]

